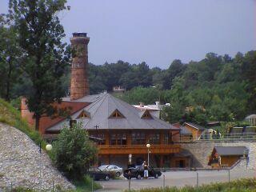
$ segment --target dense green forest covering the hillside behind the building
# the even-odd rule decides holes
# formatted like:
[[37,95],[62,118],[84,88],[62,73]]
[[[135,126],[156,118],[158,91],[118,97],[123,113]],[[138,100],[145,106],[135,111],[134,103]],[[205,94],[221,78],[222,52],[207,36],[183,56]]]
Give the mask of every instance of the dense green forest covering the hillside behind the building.
[[[66,94],[70,86],[69,67],[62,77]],[[0,69],[0,93],[5,98],[8,73],[3,62]],[[189,63],[175,59],[166,70],[150,69],[146,62],[106,62],[100,66],[90,63],[88,75],[90,94],[124,86],[127,91],[118,97],[130,104],[170,103],[162,113],[168,122],[183,120],[206,125],[209,121],[241,121],[256,111],[256,51],[238,53],[234,58],[209,53],[202,61]],[[30,79],[22,74],[18,79],[10,83],[10,100],[30,91],[26,88]]]

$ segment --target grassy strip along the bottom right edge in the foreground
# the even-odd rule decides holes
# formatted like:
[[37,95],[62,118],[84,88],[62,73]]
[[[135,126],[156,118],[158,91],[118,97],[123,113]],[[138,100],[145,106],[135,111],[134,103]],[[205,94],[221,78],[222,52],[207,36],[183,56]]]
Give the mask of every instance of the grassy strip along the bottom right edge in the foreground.
[[[125,190],[128,192],[129,190]],[[256,192],[256,178],[242,178],[233,182],[216,182],[202,186],[166,187],[130,190],[131,192]]]

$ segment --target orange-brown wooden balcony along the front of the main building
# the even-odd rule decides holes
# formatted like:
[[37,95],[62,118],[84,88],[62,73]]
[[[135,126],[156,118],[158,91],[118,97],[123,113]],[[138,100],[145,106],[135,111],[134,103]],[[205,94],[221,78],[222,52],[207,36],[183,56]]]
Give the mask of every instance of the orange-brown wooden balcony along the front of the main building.
[[[147,154],[146,145],[134,146],[98,146],[98,154]],[[181,150],[180,145],[151,145],[150,154],[175,154]]]

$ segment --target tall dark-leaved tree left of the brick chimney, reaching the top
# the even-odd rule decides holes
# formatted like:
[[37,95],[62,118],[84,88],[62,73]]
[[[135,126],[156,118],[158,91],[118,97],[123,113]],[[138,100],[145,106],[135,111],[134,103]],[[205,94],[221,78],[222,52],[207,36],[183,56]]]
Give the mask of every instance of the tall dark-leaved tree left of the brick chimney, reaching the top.
[[10,17],[18,31],[22,50],[20,66],[30,79],[28,108],[34,112],[35,128],[43,114],[53,114],[53,102],[65,95],[62,76],[70,60],[58,13],[66,9],[65,0],[10,0]]

